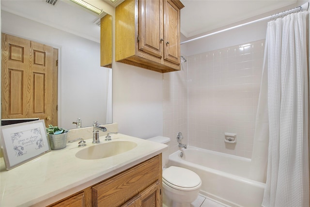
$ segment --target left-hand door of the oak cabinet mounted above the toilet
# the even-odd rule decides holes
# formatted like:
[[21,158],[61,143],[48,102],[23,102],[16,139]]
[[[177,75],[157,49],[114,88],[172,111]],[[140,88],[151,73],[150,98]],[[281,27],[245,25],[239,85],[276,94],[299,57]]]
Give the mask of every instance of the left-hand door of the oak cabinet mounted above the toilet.
[[158,58],[163,56],[163,9],[161,0],[139,1],[139,49]]

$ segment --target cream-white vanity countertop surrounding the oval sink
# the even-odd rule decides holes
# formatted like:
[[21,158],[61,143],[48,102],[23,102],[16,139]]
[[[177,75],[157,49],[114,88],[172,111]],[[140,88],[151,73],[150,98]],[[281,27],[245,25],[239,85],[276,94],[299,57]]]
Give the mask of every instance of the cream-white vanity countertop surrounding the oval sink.
[[112,141],[133,141],[137,147],[122,154],[103,159],[78,159],[75,154],[87,146],[78,147],[78,142],[68,143],[66,148],[52,150],[45,155],[24,163],[9,171],[0,160],[0,206],[47,206],[75,192],[81,191],[112,175],[120,173],[140,162],[162,153],[167,145],[112,134]]

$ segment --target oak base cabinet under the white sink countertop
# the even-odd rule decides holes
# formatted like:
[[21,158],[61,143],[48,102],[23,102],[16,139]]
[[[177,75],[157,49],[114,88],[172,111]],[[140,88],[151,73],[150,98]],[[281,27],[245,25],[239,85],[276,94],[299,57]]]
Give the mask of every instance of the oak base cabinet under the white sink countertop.
[[161,157],[141,162],[50,207],[161,207]]

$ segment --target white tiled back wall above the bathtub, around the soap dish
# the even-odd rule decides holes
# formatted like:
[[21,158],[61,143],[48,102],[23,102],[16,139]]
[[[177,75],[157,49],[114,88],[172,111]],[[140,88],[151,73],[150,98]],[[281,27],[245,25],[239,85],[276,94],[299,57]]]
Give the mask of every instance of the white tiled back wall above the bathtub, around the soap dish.
[[189,145],[251,158],[263,49],[260,40],[188,57]]

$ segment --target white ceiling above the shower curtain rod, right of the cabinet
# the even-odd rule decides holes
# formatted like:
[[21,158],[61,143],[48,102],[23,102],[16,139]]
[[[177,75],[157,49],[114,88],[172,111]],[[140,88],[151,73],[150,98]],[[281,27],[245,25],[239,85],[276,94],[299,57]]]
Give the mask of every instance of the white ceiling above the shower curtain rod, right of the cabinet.
[[181,33],[185,37],[225,28],[296,3],[296,0],[181,0]]

